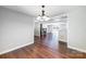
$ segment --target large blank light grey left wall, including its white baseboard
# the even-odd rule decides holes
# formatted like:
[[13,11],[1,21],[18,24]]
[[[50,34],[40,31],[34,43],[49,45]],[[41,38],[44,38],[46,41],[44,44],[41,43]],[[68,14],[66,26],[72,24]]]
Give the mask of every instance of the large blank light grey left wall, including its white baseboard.
[[0,7],[0,54],[30,43],[34,43],[33,17]]

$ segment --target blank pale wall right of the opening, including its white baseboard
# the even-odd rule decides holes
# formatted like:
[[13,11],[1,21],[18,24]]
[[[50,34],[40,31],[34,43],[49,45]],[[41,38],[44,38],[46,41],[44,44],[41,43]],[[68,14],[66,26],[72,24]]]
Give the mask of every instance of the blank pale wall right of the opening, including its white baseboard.
[[86,7],[69,13],[67,47],[86,52]]

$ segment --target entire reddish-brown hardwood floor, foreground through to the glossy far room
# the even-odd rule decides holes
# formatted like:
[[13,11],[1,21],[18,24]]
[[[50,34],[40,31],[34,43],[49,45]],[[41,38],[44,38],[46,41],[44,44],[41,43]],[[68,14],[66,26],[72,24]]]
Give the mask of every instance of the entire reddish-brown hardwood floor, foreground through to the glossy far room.
[[[54,38],[54,37],[53,37]],[[65,42],[52,35],[35,37],[35,43],[0,55],[0,59],[85,59],[86,53],[67,49]]]

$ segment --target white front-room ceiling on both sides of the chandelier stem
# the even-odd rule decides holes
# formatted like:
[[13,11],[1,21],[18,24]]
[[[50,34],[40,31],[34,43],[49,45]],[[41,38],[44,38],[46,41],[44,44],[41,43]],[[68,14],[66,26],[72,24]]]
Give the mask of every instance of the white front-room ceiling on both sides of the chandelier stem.
[[[3,5],[4,8],[19,11],[22,13],[29,14],[30,16],[38,16],[41,14],[41,7],[40,5]],[[58,14],[66,13],[70,11],[75,10],[78,7],[74,5],[46,5],[45,11],[46,15],[56,16]]]

